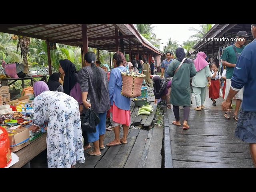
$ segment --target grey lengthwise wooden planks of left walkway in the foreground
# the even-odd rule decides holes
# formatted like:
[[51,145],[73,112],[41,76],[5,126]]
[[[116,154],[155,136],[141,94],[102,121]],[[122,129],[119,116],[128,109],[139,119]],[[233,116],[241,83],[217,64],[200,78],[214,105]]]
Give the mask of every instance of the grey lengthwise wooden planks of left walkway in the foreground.
[[[123,130],[120,131],[122,137]],[[106,132],[104,144],[114,140],[114,131]],[[151,130],[129,129],[128,144],[105,147],[101,156],[90,156],[85,151],[85,163],[76,168],[161,168],[163,128]],[[91,150],[91,149],[90,149]]]

